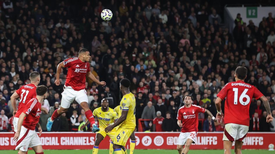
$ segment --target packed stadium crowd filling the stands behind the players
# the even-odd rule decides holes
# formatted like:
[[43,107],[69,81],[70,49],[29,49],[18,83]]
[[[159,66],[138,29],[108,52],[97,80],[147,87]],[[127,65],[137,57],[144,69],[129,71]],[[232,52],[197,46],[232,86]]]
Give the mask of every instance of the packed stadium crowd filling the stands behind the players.
[[[128,78],[136,95],[136,119],[146,131],[178,131],[176,116],[182,97],[191,94],[195,105],[216,115],[217,93],[235,80],[237,66],[248,69],[246,82],[269,100],[275,117],[275,19],[267,14],[259,25],[244,23],[239,14],[233,33],[207,2],[127,1],[0,1],[0,131],[12,131],[10,96],[30,83],[29,73],[38,71],[39,85],[49,88],[40,115],[47,118],[61,101],[67,70],[54,84],[58,63],[77,57],[81,48],[91,52],[91,72],[107,83],[86,82],[88,104],[93,111],[102,98],[116,107],[122,98],[119,81]],[[107,8],[111,21],[100,18]],[[275,121],[265,122],[267,112],[260,100],[250,105],[250,131],[275,131]],[[223,131],[224,124],[200,114],[202,131]],[[154,119],[154,120],[153,120]],[[84,110],[72,103],[54,121],[52,131],[79,131],[86,121]],[[138,120],[137,124],[138,124]]]

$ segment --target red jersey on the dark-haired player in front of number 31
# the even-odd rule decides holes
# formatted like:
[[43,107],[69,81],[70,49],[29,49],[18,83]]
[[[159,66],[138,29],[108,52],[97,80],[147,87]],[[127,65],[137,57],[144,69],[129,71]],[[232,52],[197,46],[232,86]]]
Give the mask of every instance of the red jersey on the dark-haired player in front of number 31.
[[27,103],[23,112],[27,114],[23,121],[23,126],[27,129],[35,130],[40,118],[41,103],[38,102],[37,98],[33,98]]

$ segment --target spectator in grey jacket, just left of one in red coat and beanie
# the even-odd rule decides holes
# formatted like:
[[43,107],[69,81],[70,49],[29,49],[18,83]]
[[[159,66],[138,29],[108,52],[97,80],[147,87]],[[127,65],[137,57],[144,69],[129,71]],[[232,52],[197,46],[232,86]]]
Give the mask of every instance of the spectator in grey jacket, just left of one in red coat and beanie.
[[[153,106],[153,103],[149,101],[147,103],[147,106],[144,107],[144,110],[141,115],[141,119],[154,119],[156,118],[156,111],[155,107]],[[145,127],[149,127],[150,121],[144,121]]]

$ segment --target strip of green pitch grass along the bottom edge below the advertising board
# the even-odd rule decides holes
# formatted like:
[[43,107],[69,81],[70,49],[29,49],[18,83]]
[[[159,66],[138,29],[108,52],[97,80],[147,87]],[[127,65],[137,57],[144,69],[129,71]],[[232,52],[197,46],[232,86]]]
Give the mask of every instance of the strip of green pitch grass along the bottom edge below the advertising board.
[[[1,148],[0,148],[1,149]],[[127,150],[130,153],[129,150]],[[0,150],[1,154],[14,154],[15,150]],[[91,154],[92,150],[45,150],[45,154]],[[99,150],[98,154],[108,154],[109,150]],[[223,150],[190,150],[188,154],[221,154]],[[234,153],[232,150],[231,153]],[[243,150],[242,154],[274,154],[274,151],[267,150]],[[35,154],[33,150],[29,150],[28,154]],[[114,154],[114,153],[113,153]],[[135,150],[134,154],[178,154],[175,150]]]

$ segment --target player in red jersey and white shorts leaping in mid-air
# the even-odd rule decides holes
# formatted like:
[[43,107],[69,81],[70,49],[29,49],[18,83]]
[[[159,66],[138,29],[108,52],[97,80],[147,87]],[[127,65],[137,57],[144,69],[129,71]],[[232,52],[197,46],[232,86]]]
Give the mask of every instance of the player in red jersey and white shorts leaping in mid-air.
[[60,84],[59,76],[63,67],[68,67],[68,74],[66,76],[64,91],[62,92],[61,107],[56,109],[52,117],[48,119],[46,126],[48,131],[52,129],[54,119],[59,117],[62,113],[67,112],[74,100],[84,109],[86,118],[93,126],[92,131],[99,131],[99,128],[96,127],[93,113],[88,107],[88,96],[85,90],[86,76],[99,85],[105,86],[106,83],[104,81],[100,82],[91,73],[90,58],[90,52],[87,49],[80,49],[78,57],[66,59],[58,64],[54,83],[56,85]]

